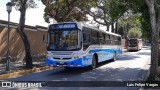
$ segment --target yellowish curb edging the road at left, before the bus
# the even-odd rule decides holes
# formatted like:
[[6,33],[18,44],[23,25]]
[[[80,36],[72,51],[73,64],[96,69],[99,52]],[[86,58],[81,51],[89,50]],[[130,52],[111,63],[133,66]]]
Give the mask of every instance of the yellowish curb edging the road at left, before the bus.
[[53,69],[53,68],[50,67],[50,66],[44,66],[44,67],[33,68],[33,69],[28,69],[28,70],[18,70],[18,71],[15,71],[15,72],[0,75],[0,80],[4,80],[4,79],[7,79],[7,78],[18,77],[18,76],[21,76],[21,75],[30,74],[30,73],[34,73],[34,72],[50,70],[50,69]]

